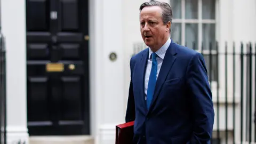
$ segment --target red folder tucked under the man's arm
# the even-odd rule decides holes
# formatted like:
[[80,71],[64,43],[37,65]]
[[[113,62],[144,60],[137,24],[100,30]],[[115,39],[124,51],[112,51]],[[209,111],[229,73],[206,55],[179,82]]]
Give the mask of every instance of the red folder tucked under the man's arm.
[[116,125],[116,144],[132,144],[134,121]]

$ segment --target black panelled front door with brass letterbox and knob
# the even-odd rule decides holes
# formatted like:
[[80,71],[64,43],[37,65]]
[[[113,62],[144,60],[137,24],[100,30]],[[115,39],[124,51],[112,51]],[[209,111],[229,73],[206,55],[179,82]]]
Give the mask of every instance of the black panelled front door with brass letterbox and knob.
[[88,0],[26,6],[29,134],[89,134]]

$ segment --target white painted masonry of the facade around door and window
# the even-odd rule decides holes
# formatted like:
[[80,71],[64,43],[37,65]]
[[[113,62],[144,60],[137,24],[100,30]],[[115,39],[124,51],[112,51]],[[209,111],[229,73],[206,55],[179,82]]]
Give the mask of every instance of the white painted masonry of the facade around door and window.
[[[162,0],[169,2],[169,0]],[[124,122],[130,82],[130,57],[133,44],[142,42],[139,6],[146,0],[90,0],[90,88],[91,131],[97,144],[112,144],[115,125]],[[1,26],[6,37],[7,57],[7,138],[28,143],[26,93],[26,4],[25,0],[1,0]],[[256,1],[217,0],[217,39],[224,51],[225,41],[256,41]],[[229,46],[231,49],[231,47]],[[239,49],[237,47],[237,51]],[[109,60],[111,52],[117,60]],[[220,57],[223,61],[223,57]],[[231,62],[231,61],[230,61]],[[239,65],[239,62],[237,61]],[[220,98],[225,94],[225,63],[220,68]],[[229,65],[228,70],[233,66]],[[239,71],[239,67],[237,67]],[[237,73],[239,76],[239,72]],[[228,75],[232,79],[233,74]],[[228,80],[229,83],[232,83]],[[237,82],[239,83],[239,79]],[[232,85],[228,85],[230,102]],[[213,89],[213,99],[216,99]],[[236,89],[239,112],[239,85]],[[229,105],[228,129],[233,129],[233,112]],[[217,115],[217,114],[216,114]],[[237,113],[239,125],[239,113]],[[215,119],[216,122],[216,119]],[[225,106],[220,107],[220,128],[225,129]],[[238,126],[236,131],[239,131]],[[216,123],[214,124],[214,130]],[[214,134],[213,134],[214,135]],[[223,134],[221,134],[223,135]],[[233,136],[230,135],[230,139]],[[239,140],[239,133],[235,135]],[[224,139],[225,140],[225,139]],[[223,140],[222,140],[223,141]],[[223,141],[224,142],[224,141]]]

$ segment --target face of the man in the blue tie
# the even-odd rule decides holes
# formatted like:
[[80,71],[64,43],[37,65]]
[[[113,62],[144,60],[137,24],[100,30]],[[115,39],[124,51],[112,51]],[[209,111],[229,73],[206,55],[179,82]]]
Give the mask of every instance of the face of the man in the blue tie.
[[144,7],[140,12],[140,32],[143,41],[151,49],[159,49],[169,36],[170,22],[164,25],[159,6]]

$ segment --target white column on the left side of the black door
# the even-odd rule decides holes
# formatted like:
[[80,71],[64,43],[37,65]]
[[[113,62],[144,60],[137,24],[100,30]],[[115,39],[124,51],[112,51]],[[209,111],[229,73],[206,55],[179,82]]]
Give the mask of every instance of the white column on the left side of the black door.
[[7,142],[28,143],[25,0],[2,0],[1,16],[6,38]]

